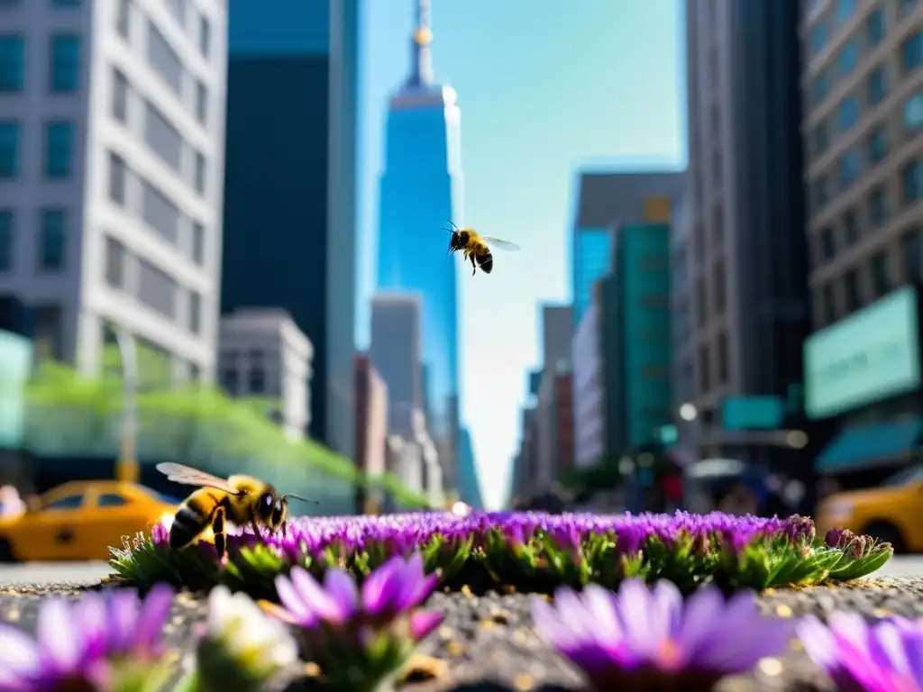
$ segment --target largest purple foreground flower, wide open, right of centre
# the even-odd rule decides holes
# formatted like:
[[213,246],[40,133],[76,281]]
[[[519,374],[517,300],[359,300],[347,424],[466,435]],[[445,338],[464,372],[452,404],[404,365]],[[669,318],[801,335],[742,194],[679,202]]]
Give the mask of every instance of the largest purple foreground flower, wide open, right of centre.
[[593,584],[581,594],[561,589],[554,605],[533,600],[533,622],[600,690],[652,685],[680,673],[710,686],[782,652],[792,635],[787,621],[761,617],[751,593],[725,602],[709,586],[683,603],[676,585],[665,580],[649,590],[630,579],[617,594]]

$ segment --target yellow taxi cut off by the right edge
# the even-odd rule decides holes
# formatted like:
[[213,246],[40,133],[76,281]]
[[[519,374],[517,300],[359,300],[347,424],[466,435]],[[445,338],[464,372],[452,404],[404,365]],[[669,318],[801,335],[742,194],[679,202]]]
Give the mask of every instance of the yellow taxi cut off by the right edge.
[[923,551],[921,512],[923,464],[916,464],[878,487],[830,495],[818,507],[816,523],[819,531],[849,529],[891,543],[895,553],[916,553]]

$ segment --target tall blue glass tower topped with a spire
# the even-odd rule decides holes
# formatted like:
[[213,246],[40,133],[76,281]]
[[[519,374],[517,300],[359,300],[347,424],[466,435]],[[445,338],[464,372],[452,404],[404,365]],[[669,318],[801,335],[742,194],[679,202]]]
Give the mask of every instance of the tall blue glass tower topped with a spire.
[[[462,224],[462,113],[432,62],[429,0],[414,0],[410,70],[391,95],[378,209],[378,289],[421,304],[426,417],[446,489],[459,478],[458,263],[447,257],[448,221]],[[400,434],[401,431],[394,431]]]

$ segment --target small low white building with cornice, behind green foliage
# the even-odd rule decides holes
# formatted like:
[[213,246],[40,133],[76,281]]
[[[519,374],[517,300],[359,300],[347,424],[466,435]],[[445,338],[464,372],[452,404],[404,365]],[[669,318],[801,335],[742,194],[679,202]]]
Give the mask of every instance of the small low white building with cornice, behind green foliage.
[[284,310],[241,309],[223,316],[219,372],[231,396],[281,402],[276,421],[292,438],[311,423],[310,381],[314,348]]

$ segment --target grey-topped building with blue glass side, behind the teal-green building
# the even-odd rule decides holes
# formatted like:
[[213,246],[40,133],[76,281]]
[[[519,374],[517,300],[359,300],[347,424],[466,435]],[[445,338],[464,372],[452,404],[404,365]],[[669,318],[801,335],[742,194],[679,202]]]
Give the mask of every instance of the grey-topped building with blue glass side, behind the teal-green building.
[[571,227],[573,325],[592,301],[593,283],[612,265],[612,230],[662,217],[682,194],[682,173],[578,173]]

